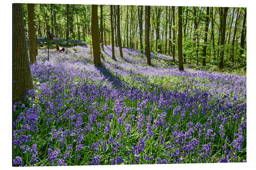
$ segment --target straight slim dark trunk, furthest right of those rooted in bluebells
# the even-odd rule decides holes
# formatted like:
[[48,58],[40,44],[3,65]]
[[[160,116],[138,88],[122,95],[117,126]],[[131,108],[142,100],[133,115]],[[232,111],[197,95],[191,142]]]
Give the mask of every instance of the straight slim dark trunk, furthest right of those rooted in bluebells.
[[184,70],[183,68],[183,56],[182,56],[182,7],[178,7],[179,15],[179,34],[178,34],[178,54],[179,54],[179,70]]

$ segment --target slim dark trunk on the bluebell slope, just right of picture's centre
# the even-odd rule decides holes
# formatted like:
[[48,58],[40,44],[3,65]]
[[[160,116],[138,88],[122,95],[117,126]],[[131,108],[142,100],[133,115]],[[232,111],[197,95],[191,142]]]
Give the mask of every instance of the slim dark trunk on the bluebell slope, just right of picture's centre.
[[150,58],[150,6],[146,6],[145,8],[146,13],[146,46],[145,46],[145,54],[147,58],[147,64],[151,65],[151,58]]

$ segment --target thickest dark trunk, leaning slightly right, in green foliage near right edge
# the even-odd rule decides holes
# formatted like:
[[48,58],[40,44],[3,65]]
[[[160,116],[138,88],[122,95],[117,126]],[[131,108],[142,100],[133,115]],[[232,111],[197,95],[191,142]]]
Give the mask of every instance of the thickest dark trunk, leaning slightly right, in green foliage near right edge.
[[224,44],[225,44],[225,32],[226,32],[226,18],[227,18],[228,7],[224,7],[223,16],[222,16],[222,25],[221,25],[221,52],[220,52],[220,64],[219,67],[223,68],[223,59],[224,59]]

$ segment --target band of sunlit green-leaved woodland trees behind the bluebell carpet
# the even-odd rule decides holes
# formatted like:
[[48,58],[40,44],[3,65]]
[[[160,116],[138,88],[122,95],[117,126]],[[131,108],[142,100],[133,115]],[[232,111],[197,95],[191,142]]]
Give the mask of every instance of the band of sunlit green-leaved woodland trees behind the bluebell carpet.
[[[14,30],[14,41],[24,38],[25,42],[28,35],[30,59],[26,61],[31,64],[36,63],[36,37],[48,37],[92,43],[95,65],[101,64],[104,44],[112,45],[113,59],[114,46],[119,46],[121,57],[121,47],[145,52],[149,65],[151,52],[169,55],[173,60],[178,55],[180,70],[184,69],[183,62],[219,68],[246,66],[246,8],[14,4],[15,17],[22,19],[19,28],[14,22],[13,29],[24,32]],[[16,43],[25,48],[20,39]],[[16,56],[22,50],[15,45],[13,61],[17,63],[13,66],[20,64],[16,57],[27,57],[23,53]]]

